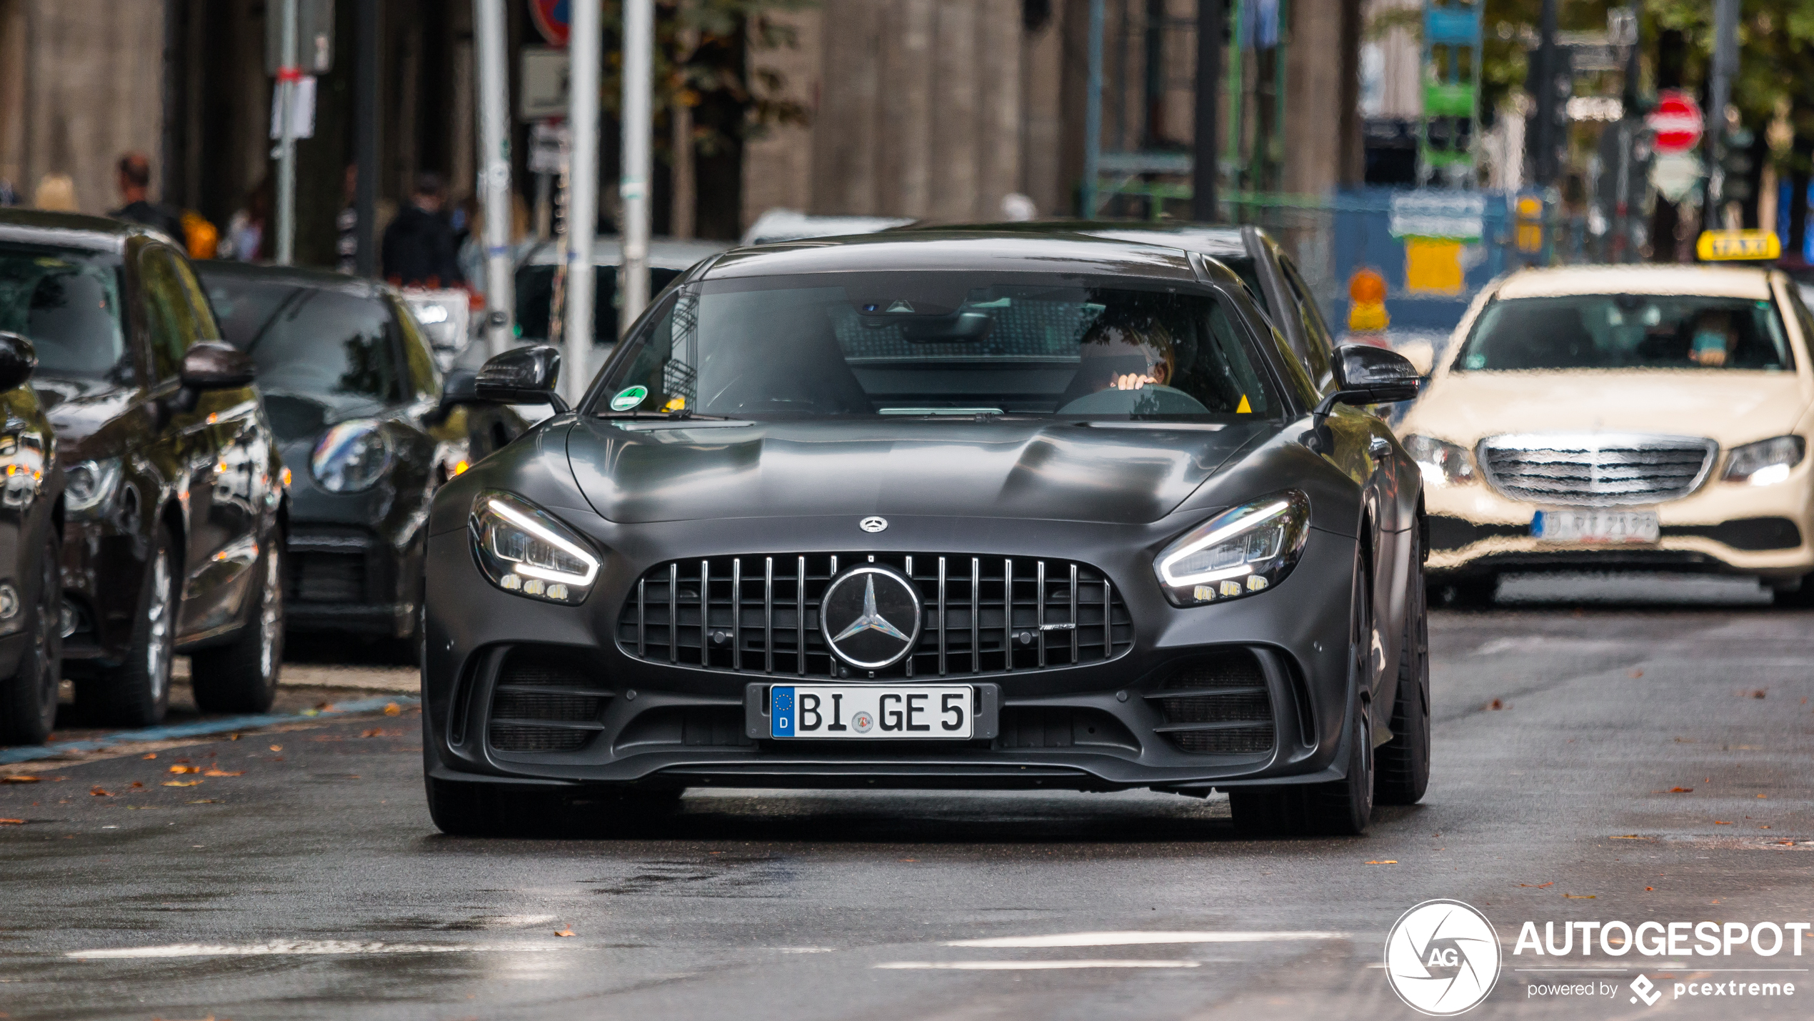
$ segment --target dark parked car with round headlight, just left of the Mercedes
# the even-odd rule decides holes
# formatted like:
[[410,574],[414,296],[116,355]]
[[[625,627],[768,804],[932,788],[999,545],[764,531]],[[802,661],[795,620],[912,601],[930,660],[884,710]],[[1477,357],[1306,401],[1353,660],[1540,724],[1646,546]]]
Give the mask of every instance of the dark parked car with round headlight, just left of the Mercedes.
[[[435,490],[522,432],[443,375],[386,285],[319,270],[205,263],[227,343],[258,365],[290,466],[290,631],[406,637],[421,617]],[[461,390],[464,386],[464,392]]]

